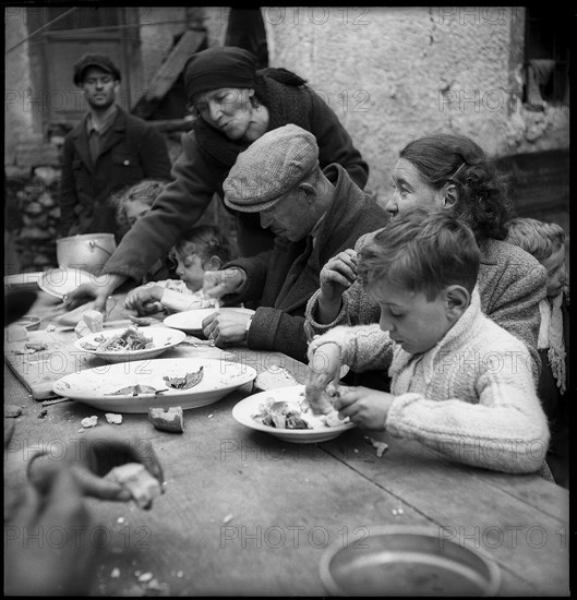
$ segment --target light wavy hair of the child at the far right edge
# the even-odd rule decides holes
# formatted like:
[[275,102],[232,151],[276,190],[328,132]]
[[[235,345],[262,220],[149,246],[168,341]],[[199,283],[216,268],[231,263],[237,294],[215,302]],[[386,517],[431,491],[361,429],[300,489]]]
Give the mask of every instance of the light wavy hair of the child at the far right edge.
[[545,261],[565,245],[565,231],[556,223],[517,217],[508,224],[506,242],[522,248],[539,262]]

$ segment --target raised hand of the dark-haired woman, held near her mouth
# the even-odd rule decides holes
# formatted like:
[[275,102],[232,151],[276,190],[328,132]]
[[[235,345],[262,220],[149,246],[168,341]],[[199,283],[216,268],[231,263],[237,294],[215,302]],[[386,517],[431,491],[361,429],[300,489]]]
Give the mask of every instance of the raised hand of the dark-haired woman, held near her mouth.
[[320,323],[333,322],[340,310],[341,297],[357,279],[357,252],[344,250],[330,259],[321,269],[318,295]]

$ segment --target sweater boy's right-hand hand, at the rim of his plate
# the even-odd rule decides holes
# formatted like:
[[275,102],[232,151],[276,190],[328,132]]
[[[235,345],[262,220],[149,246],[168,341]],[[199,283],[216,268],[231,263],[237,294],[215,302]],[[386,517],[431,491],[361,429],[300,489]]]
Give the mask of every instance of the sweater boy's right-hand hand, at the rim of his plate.
[[384,430],[388,410],[395,396],[369,387],[340,386],[339,397],[333,403],[340,419],[350,420],[366,429]]

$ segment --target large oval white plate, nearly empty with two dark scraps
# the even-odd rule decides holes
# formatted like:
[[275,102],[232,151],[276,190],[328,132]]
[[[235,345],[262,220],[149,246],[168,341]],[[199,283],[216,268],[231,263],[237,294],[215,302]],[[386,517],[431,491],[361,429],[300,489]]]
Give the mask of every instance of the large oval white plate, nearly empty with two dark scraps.
[[[201,382],[190,389],[168,387],[163,380],[183,377],[203,367]],[[227,394],[249,383],[256,371],[247,364],[221,359],[177,358],[140,360],[124,364],[106,364],[85,369],[58,380],[56,394],[111,412],[148,412],[148,408],[181,406],[183,409],[214,404]],[[107,396],[123,387],[149,385],[155,389],[168,389],[163,394],[132,394]]]

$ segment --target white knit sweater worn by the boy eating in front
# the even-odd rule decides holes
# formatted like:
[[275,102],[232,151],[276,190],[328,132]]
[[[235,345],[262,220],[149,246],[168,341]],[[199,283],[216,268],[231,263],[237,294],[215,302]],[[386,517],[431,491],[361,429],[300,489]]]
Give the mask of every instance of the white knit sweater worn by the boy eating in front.
[[357,371],[388,369],[395,396],[385,428],[442,456],[486,469],[541,469],[549,445],[526,346],[471,304],[434,348],[410,355],[372,326],[338,326],[312,340],[309,358],[335,343]]

